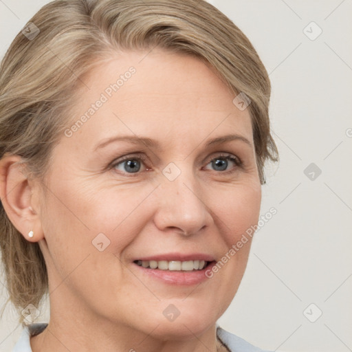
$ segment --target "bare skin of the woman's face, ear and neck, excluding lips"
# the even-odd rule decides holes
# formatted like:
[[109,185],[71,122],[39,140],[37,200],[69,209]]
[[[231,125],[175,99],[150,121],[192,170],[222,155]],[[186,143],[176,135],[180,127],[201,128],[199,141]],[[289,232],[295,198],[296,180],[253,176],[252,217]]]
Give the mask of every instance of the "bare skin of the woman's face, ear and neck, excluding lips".
[[[251,241],[199,285],[164,283],[133,263],[169,252],[219,261],[257,223],[261,184],[248,109],[237,109],[235,95],[192,56],[112,54],[83,79],[89,88],[80,88],[72,122],[131,66],[135,74],[63,135],[45,186],[25,178],[17,157],[1,161],[5,210],[28,241],[39,241],[49,274],[50,324],[31,338],[34,352],[217,351],[215,324],[245,271]],[[228,134],[249,144],[206,147]],[[95,150],[120,135],[149,137],[160,148],[118,141]],[[126,162],[108,167],[124,155],[144,155],[137,173]],[[228,160],[225,173],[214,164],[221,155],[243,164]],[[181,171],[173,181],[162,173],[170,162]],[[110,241],[102,252],[92,245],[99,233]],[[173,322],[163,314],[170,304],[180,312]]]

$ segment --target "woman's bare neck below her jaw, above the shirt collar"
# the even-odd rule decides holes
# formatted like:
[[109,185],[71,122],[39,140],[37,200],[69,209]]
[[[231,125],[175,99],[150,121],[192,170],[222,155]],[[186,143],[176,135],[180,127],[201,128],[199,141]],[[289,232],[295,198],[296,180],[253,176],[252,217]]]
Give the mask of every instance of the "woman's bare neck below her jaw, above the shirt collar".
[[[70,294],[65,283],[50,294],[50,322],[30,338],[33,352],[223,352],[217,341],[216,324],[201,329],[186,322],[146,323],[136,329],[127,321],[111,321],[87,310],[87,305]],[[172,326],[170,326],[172,324]],[[172,328],[172,329],[170,329]],[[198,328],[198,330],[197,330]],[[197,331],[194,333],[193,331]]]

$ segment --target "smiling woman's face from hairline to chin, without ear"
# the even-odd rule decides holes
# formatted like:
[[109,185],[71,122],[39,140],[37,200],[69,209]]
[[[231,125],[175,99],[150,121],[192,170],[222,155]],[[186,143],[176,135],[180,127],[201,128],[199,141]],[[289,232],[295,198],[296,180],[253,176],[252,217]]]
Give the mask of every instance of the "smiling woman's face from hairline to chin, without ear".
[[250,113],[199,59],[162,50],[116,54],[83,82],[40,203],[51,318],[201,333],[230,305],[251,241],[230,250],[259,218]]

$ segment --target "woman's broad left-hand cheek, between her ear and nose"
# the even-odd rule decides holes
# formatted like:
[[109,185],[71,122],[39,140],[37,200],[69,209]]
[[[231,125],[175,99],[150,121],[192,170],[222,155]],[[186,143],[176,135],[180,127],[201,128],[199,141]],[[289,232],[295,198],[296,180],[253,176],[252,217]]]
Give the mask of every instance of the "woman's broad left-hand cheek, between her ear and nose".
[[[120,252],[133,241],[148,217],[148,195],[153,184],[100,184],[100,182],[57,181],[50,184],[45,200],[43,229],[54,252],[74,248],[76,253],[97,251],[102,239],[107,252]],[[103,235],[102,235],[103,234]]]

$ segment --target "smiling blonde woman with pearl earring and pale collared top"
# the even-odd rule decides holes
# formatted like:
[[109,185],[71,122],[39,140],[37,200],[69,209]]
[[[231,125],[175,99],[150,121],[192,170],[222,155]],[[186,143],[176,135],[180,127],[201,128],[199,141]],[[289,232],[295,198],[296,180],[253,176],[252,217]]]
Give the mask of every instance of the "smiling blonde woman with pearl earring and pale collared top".
[[52,1],[0,89],[10,300],[23,323],[50,300],[14,351],[261,351],[217,325],[277,158],[270,81],[232,21],[200,0]]

